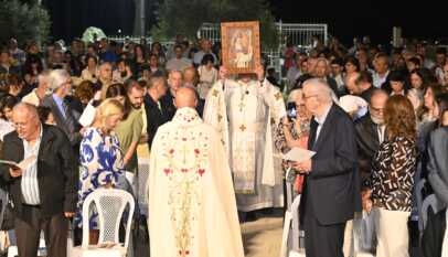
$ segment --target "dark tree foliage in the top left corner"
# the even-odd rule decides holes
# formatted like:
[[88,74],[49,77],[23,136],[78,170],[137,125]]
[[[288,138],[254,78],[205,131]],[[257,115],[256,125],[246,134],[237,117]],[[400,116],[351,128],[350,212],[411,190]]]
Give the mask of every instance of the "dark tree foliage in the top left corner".
[[38,2],[0,0],[0,42],[10,38],[19,42],[46,40],[50,24],[47,11]]

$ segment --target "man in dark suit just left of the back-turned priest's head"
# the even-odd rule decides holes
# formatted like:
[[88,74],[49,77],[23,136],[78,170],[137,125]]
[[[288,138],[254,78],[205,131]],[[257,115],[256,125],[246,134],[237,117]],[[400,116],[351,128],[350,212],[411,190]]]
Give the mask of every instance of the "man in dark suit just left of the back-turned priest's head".
[[147,113],[148,146],[151,150],[152,140],[157,129],[170,120],[168,111],[161,104],[161,98],[167,94],[167,82],[162,76],[153,76],[148,82],[147,95],[143,98]]

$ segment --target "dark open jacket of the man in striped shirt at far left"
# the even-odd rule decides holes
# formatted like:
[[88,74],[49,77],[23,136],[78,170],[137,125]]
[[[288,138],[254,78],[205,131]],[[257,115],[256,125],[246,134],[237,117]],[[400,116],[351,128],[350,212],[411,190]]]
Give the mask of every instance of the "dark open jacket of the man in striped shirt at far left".
[[[38,181],[43,217],[63,212],[75,212],[77,202],[78,169],[72,146],[65,133],[55,126],[42,125],[42,141],[38,154]],[[4,136],[1,159],[20,162],[23,160],[23,141],[15,131]],[[10,195],[18,217],[22,216],[21,176],[12,178],[9,167],[0,164],[3,182],[9,184]]]

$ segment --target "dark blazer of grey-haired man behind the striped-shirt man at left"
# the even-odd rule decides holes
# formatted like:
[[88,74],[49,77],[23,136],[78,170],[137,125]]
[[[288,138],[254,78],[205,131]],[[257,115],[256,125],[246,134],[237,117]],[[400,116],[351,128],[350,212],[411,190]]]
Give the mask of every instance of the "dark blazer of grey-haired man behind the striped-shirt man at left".
[[42,106],[51,108],[57,127],[61,128],[65,135],[67,135],[70,142],[76,148],[76,146],[81,143],[82,139],[79,135],[81,125],[77,121],[79,117],[77,113],[72,109],[70,103],[66,104],[68,106],[68,111],[66,114],[66,118],[64,118],[52,95],[45,96],[42,100]]

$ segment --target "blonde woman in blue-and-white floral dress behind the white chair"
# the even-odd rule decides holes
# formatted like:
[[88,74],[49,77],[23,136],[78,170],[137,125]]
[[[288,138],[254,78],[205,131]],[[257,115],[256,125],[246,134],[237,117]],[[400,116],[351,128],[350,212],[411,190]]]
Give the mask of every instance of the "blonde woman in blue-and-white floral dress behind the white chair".
[[[84,132],[79,157],[79,190],[75,226],[83,223],[83,203],[98,188],[116,186],[124,176],[122,152],[114,133],[115,127],[122,118],[124,107],[116,99],[105,100],[98,108],[95,121]],[[90,210],[90,243],[99,235],[97,231],[98,214]],[[92,239],[96,238],[96,239]]]

